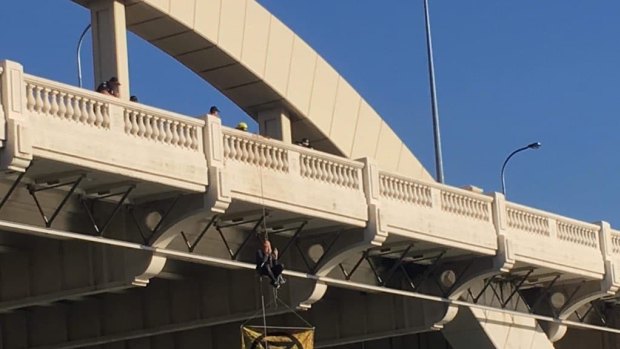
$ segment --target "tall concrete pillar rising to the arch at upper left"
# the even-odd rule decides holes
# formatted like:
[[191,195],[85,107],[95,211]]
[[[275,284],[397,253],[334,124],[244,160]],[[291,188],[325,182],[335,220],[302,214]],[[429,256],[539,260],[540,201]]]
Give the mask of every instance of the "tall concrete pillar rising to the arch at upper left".
[[129,63],[125,5],[117,0],[89,3],[93,35],[95,87],[113,76],[121,83],[120,97],[129,100]]

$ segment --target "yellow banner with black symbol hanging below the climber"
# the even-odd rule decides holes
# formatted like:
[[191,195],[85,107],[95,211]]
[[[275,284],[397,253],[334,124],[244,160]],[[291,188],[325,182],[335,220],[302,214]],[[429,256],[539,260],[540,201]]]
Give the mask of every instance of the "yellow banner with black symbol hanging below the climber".
[[241,327],[241,349],[314,349],[314,329]]

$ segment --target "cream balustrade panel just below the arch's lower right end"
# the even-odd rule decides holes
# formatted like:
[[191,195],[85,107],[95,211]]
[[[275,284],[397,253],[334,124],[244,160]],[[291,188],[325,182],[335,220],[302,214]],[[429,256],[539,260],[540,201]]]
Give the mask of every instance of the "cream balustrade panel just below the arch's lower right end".
[[391,234],[494,255],[493,198],[380,171],[383,223]]

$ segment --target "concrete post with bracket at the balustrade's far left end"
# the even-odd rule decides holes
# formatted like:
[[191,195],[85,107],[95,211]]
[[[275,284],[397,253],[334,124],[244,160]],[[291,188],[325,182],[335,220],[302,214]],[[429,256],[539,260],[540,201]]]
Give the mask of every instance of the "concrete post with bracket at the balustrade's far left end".
[[0,120],[4,132],[0,134],[3,144],[0,168],[4,171],[24,172],[32,161],[32,141],[28,132],[26,88],[24,69],[15,62],[0,62],[2,108],[4,120]]

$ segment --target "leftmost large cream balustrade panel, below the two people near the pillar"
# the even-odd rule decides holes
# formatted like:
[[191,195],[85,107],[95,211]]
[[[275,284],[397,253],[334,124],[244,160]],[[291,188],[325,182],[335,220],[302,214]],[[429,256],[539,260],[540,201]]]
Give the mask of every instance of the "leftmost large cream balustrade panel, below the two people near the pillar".
[[24,74],[33,155],[204,191],[204,121]]

